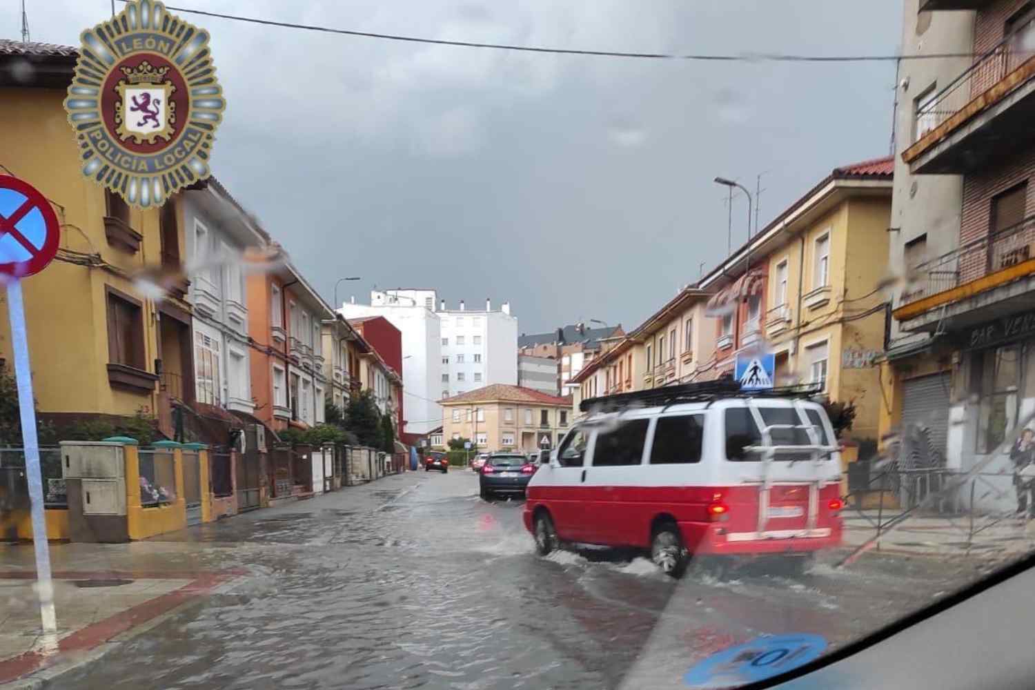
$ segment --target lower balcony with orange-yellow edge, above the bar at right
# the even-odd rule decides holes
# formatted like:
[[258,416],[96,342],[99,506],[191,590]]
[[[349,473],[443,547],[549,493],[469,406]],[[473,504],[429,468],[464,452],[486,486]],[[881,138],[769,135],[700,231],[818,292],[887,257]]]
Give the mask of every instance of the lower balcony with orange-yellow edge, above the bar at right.
[[892,316],[911,331],[990,321],[1031,302],[1033,274],[1035,216],[918,266]]

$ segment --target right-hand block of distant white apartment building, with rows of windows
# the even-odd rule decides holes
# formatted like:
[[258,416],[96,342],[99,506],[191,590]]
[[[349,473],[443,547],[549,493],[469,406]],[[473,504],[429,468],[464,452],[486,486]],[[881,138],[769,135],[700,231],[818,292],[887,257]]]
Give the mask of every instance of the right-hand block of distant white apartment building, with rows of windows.
[[493,311],[468,310],[461,300],[459,309],[439,304],[442,337],[442,397],[460,395],[492,384],[518,385],[518,319],[510,316],[510,303]]

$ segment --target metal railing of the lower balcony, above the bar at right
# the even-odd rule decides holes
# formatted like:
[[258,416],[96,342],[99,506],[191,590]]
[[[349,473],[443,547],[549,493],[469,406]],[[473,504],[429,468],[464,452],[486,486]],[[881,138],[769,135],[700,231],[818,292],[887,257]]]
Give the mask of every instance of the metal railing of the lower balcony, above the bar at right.
[[919,265],[908,278],[899,305],[952,290],[1029,259],[1035,259],[1035,216]]

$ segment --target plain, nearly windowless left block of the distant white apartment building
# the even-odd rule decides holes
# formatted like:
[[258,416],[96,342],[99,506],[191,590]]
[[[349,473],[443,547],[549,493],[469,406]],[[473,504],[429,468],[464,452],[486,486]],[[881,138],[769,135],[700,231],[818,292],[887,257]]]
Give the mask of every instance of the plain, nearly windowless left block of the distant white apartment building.
[[435,400],[442,397],[443,391],[439,387],[442,349],[435,291],[371,291],[371,304],[347,302],[338,311],[346,319],[384,317],[400,330],[404,358],[403,417],[407,420],[404,430],[426,433],[440,426],[442,408]]

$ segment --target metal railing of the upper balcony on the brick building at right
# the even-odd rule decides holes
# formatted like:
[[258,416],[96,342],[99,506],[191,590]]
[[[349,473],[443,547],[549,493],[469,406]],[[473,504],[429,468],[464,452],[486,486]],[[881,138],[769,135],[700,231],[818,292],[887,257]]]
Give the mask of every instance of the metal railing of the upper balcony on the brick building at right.
[[1027,48],[1031,42],[1030,37],[1011,33],[987,53],[978,57],[974,64],[939,91],[923,108],[917,110],[917,139],[948,120],[1027,62],[1035,52],[1030,49],[1018,50],[1018,47],[1024,44]]

